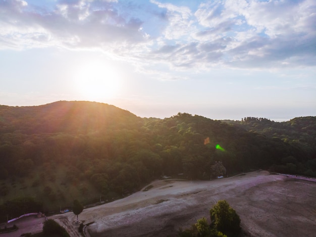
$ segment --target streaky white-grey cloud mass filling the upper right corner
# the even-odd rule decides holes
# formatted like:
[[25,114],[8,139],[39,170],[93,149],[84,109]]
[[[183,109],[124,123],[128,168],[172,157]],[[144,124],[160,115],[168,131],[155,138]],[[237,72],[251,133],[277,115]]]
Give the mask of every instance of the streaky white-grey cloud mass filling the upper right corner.
[[311,1],[214,1],[201,4],[195,16],[207,27],[197,37],[232,39],[222,51],[228,59],[225,64],[293,67],[315,63],[315,51],[311,50],[315,27],[310,22],[316,22],[316,16]]

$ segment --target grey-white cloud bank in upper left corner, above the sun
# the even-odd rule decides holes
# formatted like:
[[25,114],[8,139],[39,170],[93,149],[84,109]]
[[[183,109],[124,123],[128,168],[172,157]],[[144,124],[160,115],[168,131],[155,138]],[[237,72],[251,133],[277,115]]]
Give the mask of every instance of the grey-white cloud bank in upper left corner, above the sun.
[[84,1],[63,3],[57,5],[54,12],[45,15],[23,11],[18,0],[12,3],[15,4],[0,3],[4,16],[0,18],[0,37],[3,41],[13,39],[11,46],[17,48],[36,47],[36,40],[30,40],[40,34],[46,39],[47,46],[76,48],[96,48],[104,43],[118,42],[133,44],[146,40],[146,35],[139,30],[142,22],[137,18],[124,19],[108,2],[100,2],[96,6]]

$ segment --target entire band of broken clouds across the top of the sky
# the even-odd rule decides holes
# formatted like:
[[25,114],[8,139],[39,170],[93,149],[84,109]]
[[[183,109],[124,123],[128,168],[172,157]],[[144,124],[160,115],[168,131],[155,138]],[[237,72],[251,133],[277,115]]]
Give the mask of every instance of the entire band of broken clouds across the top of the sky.
[[[0,2],[0,49],[99,49],[139,65],[274,68],[316,64],[313,0]],[[160,22],[154,22],[154,20]]]

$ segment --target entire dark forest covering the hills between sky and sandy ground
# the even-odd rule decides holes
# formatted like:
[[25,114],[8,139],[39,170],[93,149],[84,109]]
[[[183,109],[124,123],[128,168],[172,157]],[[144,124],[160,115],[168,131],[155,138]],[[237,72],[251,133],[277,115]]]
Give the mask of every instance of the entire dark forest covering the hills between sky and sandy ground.
[[0,205],[32,198],[48,212],[75,199],[111,201],[163,176],[209,179],[216,161],[226,175],[316,176],[315,144],[316,117],[159,119],[95,102],[0,106]]

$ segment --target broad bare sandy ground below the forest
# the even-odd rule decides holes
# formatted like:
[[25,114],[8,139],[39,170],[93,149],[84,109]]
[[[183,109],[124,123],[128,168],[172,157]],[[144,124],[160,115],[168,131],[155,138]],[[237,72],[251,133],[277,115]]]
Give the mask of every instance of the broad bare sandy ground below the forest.
[[[180,227],[197,219],[209,221],[209,209],[225,199],[249,236],[316,236],[315,182],[257,171],[212,181],[159,180],[151,185],[149,191],[84,209],[79,219],[94,221],[86,229],[88,235],[176,236]],[[71,236],[82,236],[73,225],[73,213],[51,218]]]

